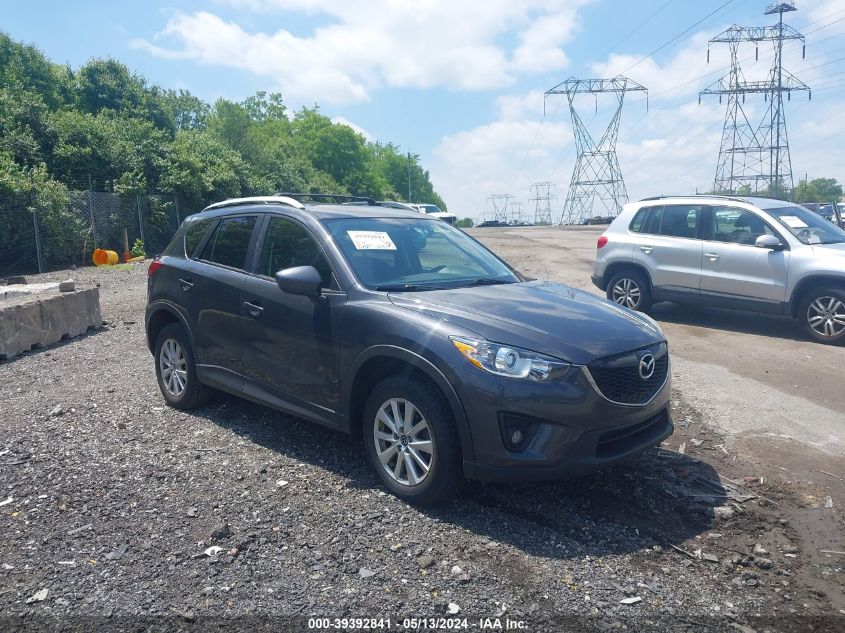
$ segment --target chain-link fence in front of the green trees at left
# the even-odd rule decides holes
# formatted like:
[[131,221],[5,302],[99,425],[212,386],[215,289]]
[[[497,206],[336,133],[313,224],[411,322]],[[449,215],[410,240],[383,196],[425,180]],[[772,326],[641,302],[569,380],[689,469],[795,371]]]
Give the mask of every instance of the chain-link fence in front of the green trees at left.
[[164,250],[183,217],[176,196],[0,196],[0,278],[91,265],[95,248],[122,259],[136,239],[152,256]]

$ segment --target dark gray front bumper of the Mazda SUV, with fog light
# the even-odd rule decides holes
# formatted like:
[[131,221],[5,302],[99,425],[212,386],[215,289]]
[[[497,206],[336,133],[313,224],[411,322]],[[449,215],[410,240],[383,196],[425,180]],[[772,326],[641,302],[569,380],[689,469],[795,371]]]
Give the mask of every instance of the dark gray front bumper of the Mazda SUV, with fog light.
[[[554,383],[462,372],[473,460],[464,474],[486,481],[538,481],[579,475],[636,457],[669,437],[671,378],[644,405],[622,405],[599,393],[580,367]],[[521,450],[508,446],[503,416],[530,423]]]

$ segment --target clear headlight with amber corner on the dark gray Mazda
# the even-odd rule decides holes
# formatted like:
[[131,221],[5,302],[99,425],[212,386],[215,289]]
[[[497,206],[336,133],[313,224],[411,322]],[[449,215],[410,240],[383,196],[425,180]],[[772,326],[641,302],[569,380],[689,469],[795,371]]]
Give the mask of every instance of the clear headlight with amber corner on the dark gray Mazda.
[[543,382],[562,376],[569,368],[568,363],[519,347],[459,336],[449,338],[470,363],[497,376]]

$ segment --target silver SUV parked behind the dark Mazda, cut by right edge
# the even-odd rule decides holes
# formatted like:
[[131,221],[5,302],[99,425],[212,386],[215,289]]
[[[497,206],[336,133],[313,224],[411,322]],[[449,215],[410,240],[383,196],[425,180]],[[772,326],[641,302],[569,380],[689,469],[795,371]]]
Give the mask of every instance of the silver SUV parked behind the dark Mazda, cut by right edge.
[[675,301],[783,314],[817,341],[845,341],[845,231],[791,202],[627,204],[599,237],[592,280],[634,310]]

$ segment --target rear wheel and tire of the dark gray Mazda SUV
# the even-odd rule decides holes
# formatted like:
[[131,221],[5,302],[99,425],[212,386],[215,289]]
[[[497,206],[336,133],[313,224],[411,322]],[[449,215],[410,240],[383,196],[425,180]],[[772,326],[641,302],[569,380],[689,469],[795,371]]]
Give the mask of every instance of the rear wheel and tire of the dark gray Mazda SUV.
[[[214,395],[211,387],[203,385],[197,377],[194,351],[181,325],[171,323],[159,332],[155,344],[155,365],[158,387],[170,406],[195,409]],[[177,371],[171,369],[168,372],[169,367]]]

